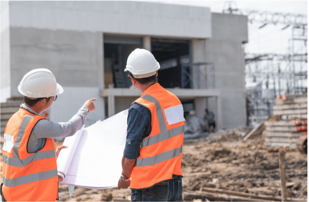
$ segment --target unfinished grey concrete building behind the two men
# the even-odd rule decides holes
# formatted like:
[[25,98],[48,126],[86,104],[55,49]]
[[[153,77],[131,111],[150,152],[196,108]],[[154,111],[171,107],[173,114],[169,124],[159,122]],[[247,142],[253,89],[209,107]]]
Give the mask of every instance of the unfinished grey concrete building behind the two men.
[[[248,42],[247,16],[132,1],[0,4],[2,103],[20,98],[17,86],[27,72],[47,68],[64,88],[50,120],[68,121],[93,97],[96,110],[87,120],[104,120],[141,95],[123,70],[129,54],[145,48],[161,65],[159,83],[180,99],[185,113],[203,116],[209,108],[218,128],[246,124],[241,45]],[[3,133],[5,124],[0,127]]]

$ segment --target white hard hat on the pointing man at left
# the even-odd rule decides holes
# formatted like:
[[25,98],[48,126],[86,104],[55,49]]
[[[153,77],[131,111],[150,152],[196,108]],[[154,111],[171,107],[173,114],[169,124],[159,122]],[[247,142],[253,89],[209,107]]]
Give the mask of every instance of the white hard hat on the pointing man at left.
[[63,88],[49,69],[33,69],[18,85],[18,91],[29,98],[46,98],[63,93]]

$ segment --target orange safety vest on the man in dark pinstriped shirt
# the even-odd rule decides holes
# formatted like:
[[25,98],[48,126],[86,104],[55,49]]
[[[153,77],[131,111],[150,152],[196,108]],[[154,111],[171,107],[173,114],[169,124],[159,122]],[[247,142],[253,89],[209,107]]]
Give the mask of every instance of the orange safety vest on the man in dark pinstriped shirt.
[[133,189],[151,187],[182,175],[181,158],[184,141],[184,111],[180,100],[155,83],[134,103],[151,112],[151,132],[142,141],[139,157],[131,174]]

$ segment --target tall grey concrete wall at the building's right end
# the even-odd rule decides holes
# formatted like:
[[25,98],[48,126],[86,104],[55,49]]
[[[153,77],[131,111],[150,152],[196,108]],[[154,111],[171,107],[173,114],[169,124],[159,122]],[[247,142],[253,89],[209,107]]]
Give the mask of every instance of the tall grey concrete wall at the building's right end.
[[[247,16],[212,13],[212,38],[206,40],[206,61],[215,63],[216,89],[222,95],[223,128],[245,125],[244,57]],[[208,100],[215,111],[215,99]]]

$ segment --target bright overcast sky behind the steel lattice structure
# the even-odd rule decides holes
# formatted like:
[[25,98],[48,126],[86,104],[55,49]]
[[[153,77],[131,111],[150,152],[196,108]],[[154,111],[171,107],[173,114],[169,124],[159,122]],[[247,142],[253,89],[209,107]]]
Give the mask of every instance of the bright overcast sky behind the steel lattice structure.
[[[145,1],[145,0],[142,0]],[[211,12],[222,13],[226,1],[147,1],[167,4],[210,7]],[[234,1],[240,10],[276,11],[282,13],[308,13],[307,1]],[[244,12],[245,13],[245,12]],[[281,30],[285,25],[268,24],[259,29],[263,23],[248,23],[248,44],[245,45],[249,53],[288,53],[288,41],[292,36],[292,28]]]

